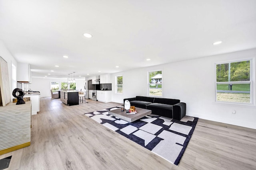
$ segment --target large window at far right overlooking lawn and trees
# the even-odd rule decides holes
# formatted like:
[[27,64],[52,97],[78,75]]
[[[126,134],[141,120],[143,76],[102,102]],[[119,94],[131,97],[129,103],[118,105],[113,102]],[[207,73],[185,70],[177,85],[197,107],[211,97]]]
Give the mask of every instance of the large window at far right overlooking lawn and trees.
[[252,59],[216,64],[216,102],[253,104]]

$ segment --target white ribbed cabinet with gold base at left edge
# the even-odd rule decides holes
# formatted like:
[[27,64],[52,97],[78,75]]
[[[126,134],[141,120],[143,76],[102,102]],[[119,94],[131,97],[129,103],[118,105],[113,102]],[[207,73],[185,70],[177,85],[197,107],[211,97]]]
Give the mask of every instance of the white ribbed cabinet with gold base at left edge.
[[0,107],[0,155],[30,146],[31,102]]

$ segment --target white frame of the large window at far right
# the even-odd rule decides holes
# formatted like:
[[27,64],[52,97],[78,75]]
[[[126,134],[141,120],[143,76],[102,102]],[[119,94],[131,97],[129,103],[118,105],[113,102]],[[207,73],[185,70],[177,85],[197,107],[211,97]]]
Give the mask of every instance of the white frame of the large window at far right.
[[[217,71],[216,67],[218,64],[226,64],[226,63],[236,63],[236,62],[242,62],[242,61],[250,61],[250,80],[249,81],[230,81],[230,82],[217,82]],[[238,60],[231,60],[231,61],[224,61],[224,62],[218,62],[215,63],[215,102],[220,104],[238,104],[238,105],[255,105],[255,99],[254,99],[254,59],[248,58],[248,59],[238,59]],[[250,103],[245,102],[226,102],[226,101],[218,101],[217,100],[217,84],[250,84]]]

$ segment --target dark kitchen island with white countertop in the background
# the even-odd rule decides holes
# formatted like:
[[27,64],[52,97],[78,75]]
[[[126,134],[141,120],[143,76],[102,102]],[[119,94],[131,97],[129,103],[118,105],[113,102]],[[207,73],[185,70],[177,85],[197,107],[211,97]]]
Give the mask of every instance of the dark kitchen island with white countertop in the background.
[[60,101],[68,106],[78,105],[78,90],[61,90]]

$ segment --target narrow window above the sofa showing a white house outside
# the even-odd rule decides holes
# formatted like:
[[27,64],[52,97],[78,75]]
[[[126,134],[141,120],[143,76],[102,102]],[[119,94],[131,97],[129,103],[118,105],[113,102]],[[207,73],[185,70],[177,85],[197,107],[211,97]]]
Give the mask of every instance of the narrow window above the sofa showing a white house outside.
[[148,96],[162,96],[162,71],[148,72]]

